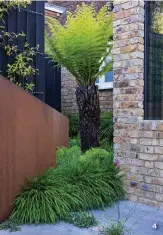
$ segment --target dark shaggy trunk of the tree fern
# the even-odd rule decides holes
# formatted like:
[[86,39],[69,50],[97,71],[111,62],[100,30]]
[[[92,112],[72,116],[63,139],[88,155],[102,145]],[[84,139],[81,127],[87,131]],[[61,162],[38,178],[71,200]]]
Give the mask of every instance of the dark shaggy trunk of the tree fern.
[[85,152],[99,146],[100,106],[98,87],[95,84],[76,88],[79,109],[81,150]]

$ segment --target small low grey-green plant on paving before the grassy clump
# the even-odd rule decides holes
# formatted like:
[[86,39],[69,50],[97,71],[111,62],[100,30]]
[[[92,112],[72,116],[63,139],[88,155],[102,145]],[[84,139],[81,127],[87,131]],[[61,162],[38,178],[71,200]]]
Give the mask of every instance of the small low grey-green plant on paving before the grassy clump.
[[65,221],[80,228],[89,228],[97,225],[94,215],[87,211],[70,212]]

